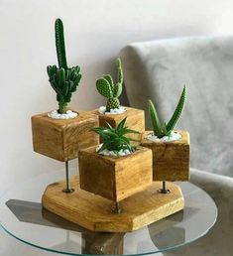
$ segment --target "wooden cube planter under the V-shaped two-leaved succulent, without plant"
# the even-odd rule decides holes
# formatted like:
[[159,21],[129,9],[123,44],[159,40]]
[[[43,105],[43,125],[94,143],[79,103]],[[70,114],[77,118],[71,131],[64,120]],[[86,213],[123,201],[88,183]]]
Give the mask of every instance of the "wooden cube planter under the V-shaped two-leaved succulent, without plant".
[[[153,151],[153,180],[154,181],[188,181],[190,140],[189,133],[177,131],[182,137],[173,142],[153,142],[142,140],[142,146]],[[145,137],[152,131],[147,131]]]

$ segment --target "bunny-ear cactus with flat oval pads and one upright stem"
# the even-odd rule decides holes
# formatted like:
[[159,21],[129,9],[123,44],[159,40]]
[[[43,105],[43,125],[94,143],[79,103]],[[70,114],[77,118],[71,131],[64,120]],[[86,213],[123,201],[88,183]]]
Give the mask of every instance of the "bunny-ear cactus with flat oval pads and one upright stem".
[[98,92],[107,98],[106,111],[119,108],[120,102],[118,97],[121,95],[123,87],[123,71],[121,67],[121,60],[116,61],[117,66],[117,82],[114,84],[113,78],[110,74],[104,74],[103,77],[96,80],[96,88]]

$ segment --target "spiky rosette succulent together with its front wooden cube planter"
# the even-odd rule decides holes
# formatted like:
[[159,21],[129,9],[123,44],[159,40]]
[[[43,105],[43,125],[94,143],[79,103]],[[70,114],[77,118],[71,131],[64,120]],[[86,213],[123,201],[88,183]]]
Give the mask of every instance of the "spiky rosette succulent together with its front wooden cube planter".
[[138,133],[125,126],[124,118],[116,128],[93,130],[103,139],[103,144],[81,150],[78,155],[80,188],[115,201],[115,211],[120,212],[119,201],[142,192],[152,185],[152,151],[131,145],[127,134]]

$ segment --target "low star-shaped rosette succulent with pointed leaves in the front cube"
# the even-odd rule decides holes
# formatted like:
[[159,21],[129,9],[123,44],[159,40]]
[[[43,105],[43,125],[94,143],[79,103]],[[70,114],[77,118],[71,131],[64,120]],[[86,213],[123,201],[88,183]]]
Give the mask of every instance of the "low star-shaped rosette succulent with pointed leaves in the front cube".
[[106,149],[113,151],[116,155],[118,155],[120,150],[128,149],[130,152],[135,151],[135,148],[131,145],[131,141],[136,140],[126,137],[125,135],[129,133],[139,134],[139,132],[128,129],[128,127],[125,126],[126,119],[127,117],[125,117],[116,128],[113,128],[108,122],[106,122],[107,127],[95,127],[92,129],[103,139],[103,144],[97,151],[98,153]]

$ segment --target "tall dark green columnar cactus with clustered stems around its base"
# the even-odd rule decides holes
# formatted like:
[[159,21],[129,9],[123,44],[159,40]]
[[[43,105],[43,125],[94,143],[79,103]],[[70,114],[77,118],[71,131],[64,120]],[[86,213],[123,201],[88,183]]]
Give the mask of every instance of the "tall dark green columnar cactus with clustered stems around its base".
[[65,46],[63,37],[63,24],[60,19],[55,23],[56,48],[58,55],[58,66],[48,65],[47,72],[49,81],[57,93],[58,112],[65,113],[67,105],[71,100],[72,92],[77,89],[81,79],[80,67],[68,67],[66,64]]

